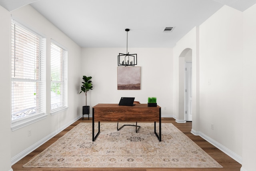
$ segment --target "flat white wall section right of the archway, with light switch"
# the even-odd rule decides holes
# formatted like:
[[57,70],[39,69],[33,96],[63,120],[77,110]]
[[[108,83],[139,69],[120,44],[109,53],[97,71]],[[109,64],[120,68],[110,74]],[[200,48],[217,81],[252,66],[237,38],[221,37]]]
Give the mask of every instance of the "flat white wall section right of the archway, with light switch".
[[200,131],[240,157],[242,23],[242,12],[224,6],[200,26],[199,41]]

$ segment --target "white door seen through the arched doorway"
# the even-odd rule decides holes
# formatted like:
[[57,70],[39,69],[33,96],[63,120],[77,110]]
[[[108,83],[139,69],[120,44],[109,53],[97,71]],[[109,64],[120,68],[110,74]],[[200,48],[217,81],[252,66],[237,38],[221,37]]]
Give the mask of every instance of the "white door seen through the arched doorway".
[[184,120],[192,121],[192,62],[185,65]]

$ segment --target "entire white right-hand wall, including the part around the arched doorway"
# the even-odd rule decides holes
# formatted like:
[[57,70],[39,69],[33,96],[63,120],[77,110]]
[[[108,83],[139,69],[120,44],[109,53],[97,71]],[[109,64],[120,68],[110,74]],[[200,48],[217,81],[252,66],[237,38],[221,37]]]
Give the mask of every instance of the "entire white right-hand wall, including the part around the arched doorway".
[[[243,14],[222,7],[174,47],[174,95],[179,101],[179,58],[192,49],[192,133],[242,163]],[[236,29],[234,29],[236,28]],[[208,81],[210,80],[210,85]],[[174,104],[177,119],[183,119]],[[214,124],[214,129],[211,129]]]

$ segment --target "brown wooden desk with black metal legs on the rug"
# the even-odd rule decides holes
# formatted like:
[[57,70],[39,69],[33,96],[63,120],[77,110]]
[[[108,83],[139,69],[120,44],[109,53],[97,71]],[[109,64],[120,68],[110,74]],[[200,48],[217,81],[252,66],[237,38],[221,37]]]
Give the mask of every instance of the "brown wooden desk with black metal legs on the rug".
[[[98,121],[98,133],[94,137],[94,122]],[[118,104],[97,104],[92,107],[92,141],[100,133],[100,121],[149,122],[154,121],[154,133],[161,141],[161,107],[148,107],[148,104],[120,106]],[[159,122],[159,135],[156,133],[156,122]]]

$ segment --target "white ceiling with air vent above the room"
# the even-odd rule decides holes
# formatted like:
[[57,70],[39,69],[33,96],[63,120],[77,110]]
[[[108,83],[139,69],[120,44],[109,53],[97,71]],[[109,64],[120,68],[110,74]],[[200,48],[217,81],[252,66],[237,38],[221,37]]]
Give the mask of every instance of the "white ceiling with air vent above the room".
[[[172,48],[222,6],[244,11],[256,0],[0,0],[30,4],[81,47]],[[163,32],[165,27],[174,27]]]

